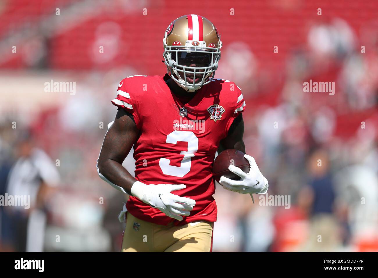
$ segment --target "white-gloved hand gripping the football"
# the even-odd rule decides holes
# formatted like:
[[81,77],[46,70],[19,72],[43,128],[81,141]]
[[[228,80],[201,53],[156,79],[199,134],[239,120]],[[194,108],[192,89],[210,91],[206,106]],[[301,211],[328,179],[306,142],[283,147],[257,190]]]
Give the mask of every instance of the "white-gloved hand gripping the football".
[[234,192],[243,194],[265,194],[268,190],[268,180],[261,174],[255,159],[247,154],[244,155],[249,162],[249,173],[245,173],[239,167],[230,165],[228,169],[240,177],[240,180],[231,180],[224,176],[220,177],[220,185]]

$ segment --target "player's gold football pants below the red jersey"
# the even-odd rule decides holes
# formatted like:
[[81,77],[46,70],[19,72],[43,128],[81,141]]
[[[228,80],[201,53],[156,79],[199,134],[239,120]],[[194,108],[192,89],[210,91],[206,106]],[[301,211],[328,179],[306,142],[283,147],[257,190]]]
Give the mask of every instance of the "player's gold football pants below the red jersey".
[[211,252],[213,222],[158,225],[125,214],[122,252]]

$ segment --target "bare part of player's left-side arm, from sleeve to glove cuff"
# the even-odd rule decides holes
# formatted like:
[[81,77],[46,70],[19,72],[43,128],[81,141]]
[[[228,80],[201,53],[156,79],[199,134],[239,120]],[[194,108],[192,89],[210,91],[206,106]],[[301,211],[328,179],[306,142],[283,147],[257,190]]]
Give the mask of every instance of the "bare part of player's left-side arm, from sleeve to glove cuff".
[[[121,191],[131,195],[131,187],[136,179],[122,166],[122,162],[138,138],[139,130],[132,115],[119,109],[113,124],[105,135],[97,168],[105,181],[116,185]],[[101,177],[100,175],[100,177]],[[102,177],[101,177],[102,178]]]

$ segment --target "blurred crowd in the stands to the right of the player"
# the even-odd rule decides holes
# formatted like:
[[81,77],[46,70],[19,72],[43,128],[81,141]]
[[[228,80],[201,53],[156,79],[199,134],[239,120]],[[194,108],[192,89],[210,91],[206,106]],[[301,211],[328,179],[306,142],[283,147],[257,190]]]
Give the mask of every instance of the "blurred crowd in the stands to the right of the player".
[[[214,246],[378,251],[378,33],[366,35],[371,44],[364,56],[347,22],[311,26],[307,43],[293,51],[282,83],[272,89],[275,105],[265,105],[259,89],[250,94],[246,110],[255,111],[244,119],[246,151],[268,178],[268,195],[290,196],[291,206],[266,206],[264,197],[256,206],[248,196],[216,191],[214,235],[218,228],[223,237],[215,237]],[[335,95],[304,93],[310,79],[336,81]],[[260,80],[257,74],[254,87]],[[237,247],[225,240],[234,234]]]

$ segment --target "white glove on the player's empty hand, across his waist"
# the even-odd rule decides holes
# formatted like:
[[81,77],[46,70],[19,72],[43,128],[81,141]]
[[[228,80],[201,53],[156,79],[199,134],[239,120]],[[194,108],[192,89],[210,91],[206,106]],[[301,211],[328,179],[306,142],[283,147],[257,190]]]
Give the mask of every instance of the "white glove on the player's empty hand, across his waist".
[[195,200],[172,194],[171,191],[186,188],[183,184],[150,184],[136,181],[131,187],[131,194],[142,202],[157,208],[167,216],[183,220],[181,215],[189,216]]

